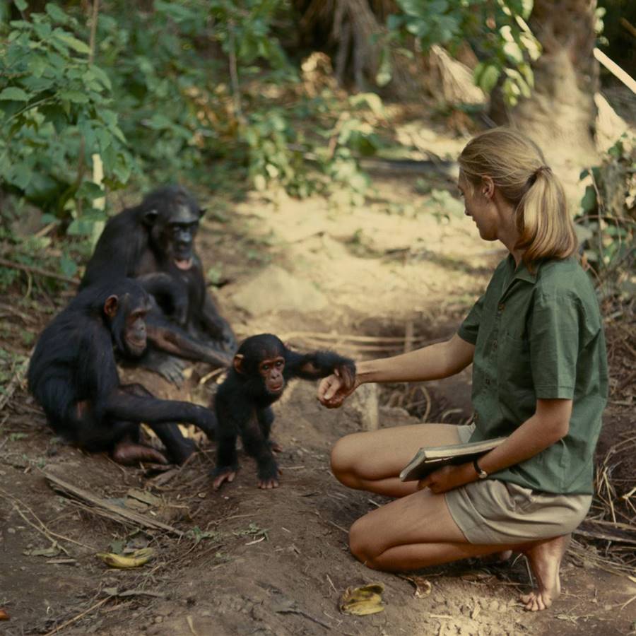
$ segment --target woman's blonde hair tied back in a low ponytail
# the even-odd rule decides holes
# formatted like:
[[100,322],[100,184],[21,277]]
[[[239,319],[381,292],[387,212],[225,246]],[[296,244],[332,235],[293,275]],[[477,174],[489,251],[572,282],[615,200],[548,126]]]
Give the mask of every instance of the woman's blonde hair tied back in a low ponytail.
[[473,187],[488,176],[514,206],[519,232],[514,247],[524,250],[529,269],[543,259],[565,259],[576,251],[563,186],[534,141],[511,128],[488,130],[469,141],[459,165]]

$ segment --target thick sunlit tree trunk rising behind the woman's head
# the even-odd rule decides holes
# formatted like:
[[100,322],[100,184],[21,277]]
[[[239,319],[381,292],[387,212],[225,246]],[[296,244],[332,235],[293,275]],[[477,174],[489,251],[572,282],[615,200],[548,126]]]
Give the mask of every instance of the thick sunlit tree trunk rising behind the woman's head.
[[[561,163],[563,155],[576,158],[579,165],[596,156],[594,93],[599,71],[593,54],[595,9],[596,0],[534,1],[530,28],[543,47],[532,65],[534,90],[530,98],[505,109],[508,121],[534,139],[556,163]],[[496,99],[491,117],[504,123]]]

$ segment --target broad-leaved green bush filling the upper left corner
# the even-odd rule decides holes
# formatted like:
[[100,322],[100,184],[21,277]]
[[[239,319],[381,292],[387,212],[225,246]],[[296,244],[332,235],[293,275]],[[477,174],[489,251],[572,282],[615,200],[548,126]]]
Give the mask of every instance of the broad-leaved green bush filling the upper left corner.
[[[20,11],[25,0],[16,0]],[[93,182],[99,155],[107,187],[121,187],[133,160],[112,107],[107,73],[76,37],[76,19],[49,3],[46,13],[0,25],[0,179],[81,232],[103,196]]]

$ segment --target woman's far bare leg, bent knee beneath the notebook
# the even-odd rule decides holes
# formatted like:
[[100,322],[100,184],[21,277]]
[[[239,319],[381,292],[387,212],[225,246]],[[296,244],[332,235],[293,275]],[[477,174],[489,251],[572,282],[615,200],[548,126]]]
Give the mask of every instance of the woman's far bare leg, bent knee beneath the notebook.
[[418,483],[401,482],[399,473],[420,447],[457,443],[457,426],[452,424],[413,424],[353,433],[334,445],[331,470],[349,488],[404,497],[415,493]]

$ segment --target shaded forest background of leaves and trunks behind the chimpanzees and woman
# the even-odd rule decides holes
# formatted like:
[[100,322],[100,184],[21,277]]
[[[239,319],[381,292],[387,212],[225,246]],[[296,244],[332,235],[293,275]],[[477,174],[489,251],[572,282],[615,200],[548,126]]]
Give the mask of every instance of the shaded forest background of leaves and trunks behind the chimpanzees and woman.
[[[452,166],[396,134],[426,113],[463,139],[503,123],[532,136],[565,178],[601,295],[626,302],[635,24],[627,0],[4,3],[0,289],[77,281],[107,217],[163,182],[363,206],[370,160]],[[224,282],[220,265],[207,276]],[[0,355],[13,377],[24,355]]]

